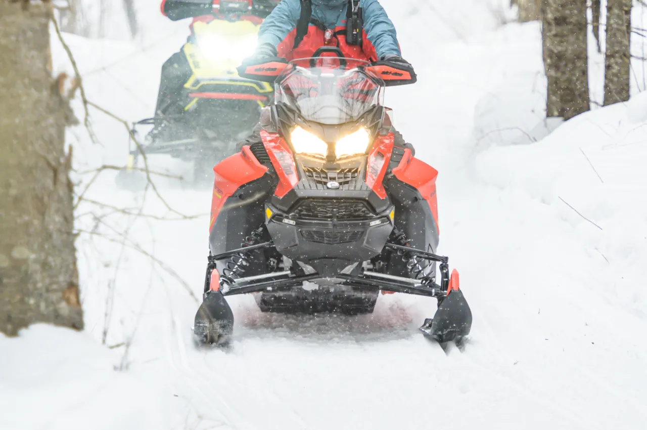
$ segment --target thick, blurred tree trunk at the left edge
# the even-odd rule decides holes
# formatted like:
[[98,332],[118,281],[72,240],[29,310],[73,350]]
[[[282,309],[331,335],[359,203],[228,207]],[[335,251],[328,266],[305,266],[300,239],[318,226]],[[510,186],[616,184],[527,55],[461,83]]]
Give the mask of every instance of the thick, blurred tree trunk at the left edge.
[[50,6],[0,0],[0,332],[83,328]]

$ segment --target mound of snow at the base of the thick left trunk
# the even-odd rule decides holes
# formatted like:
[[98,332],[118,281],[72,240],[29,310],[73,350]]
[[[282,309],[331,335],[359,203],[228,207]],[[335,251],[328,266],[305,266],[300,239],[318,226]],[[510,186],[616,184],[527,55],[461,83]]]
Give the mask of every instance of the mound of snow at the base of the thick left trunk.
[[87,333],[36,324],[0,335],[0,352],[2,429],[164,428],[173,394],[116,372],[114,354]]

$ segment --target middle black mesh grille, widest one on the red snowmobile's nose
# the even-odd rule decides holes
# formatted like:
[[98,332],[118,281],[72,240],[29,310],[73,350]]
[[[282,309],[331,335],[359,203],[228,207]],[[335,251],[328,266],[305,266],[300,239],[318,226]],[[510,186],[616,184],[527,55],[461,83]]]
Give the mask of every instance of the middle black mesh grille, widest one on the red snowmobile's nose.
[[305,199],[292,214],[311,220],[366,220],[375,216],[364,201],[353,199]]

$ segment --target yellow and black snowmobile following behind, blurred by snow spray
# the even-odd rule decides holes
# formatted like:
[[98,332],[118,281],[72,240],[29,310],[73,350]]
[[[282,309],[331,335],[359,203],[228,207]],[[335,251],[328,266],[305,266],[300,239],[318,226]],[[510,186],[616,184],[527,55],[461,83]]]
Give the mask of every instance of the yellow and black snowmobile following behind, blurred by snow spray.
[[[215,163],[236,152],[236,143],[258,123],[274,89],[268,82],[241,78],[236,66],[254,51],[258,25],[214,19],[192,25],[192,35],[176,56],[188,64],[182,88],[161,94],[157,115],[133,127],[133,136],[149,126],[145,139],[131,142],[126,170],[118,185],[137,188],[142,152],[166,154],[193,163],[195,182],[211,181]],[[180,60],[178,60],[180,61]]]

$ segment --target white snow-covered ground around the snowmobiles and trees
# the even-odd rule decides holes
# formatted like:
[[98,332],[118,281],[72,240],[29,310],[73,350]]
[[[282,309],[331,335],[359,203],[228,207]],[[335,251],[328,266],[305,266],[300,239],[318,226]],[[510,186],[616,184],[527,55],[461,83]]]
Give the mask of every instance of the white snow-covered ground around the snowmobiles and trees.
[[[157,41],[67,36],[89,99],[129,121],[150,115],[159,67],[186,37],[186,22],[153,17],[156,3],[142,1]],[[536,23],[499,25],[505,14],[492,5],[500,2],[381,3],[419,74],[419,84],[389,89],[387,101],[418,156],[440,171],[439,251],[461,271],[474,313],[465,348],[444,351],[417,332],[435,300],[392,295],[359,317],[267,315],[236,297],[232,348],[195,350],[192,295],[202,289],[210,192],[160,179],[168,205],[197,218],[79,207],[85,332],[37,325],[0,337],[0,428],[645,427],[641,64],[630,102],[544,137],[555,124],[542,120]],[[599,67],[600,58],[591,62]],[[601,75],[591,75],[595,98]],[[123,125],[91,113],[100,143],[70,131],[76,169],[124,164]],[[80,189],[92,176],[78,175]],[[117,190],[114,177],[102,173],[87,198],[178,217],[152,192],[142,201]]]

